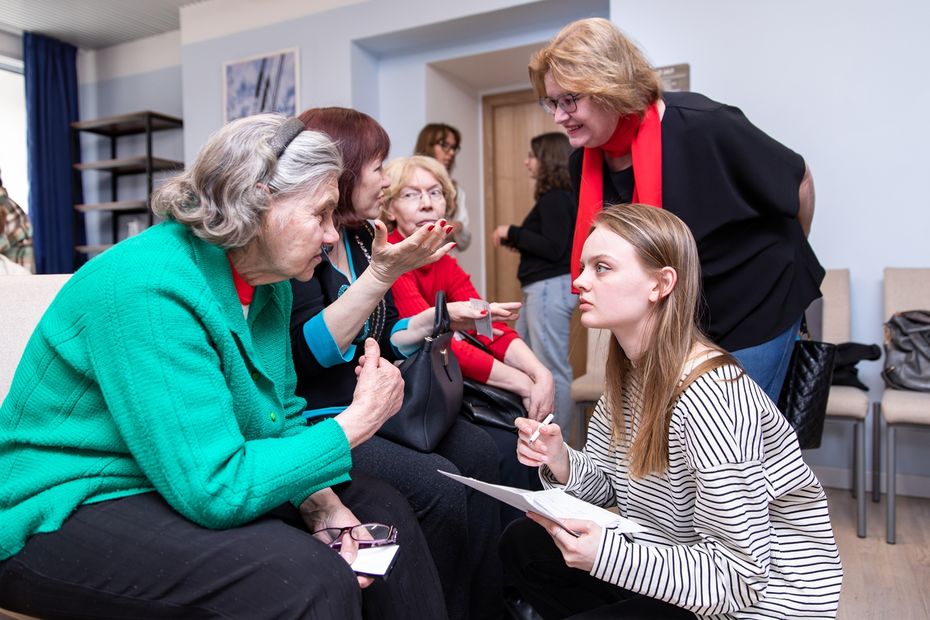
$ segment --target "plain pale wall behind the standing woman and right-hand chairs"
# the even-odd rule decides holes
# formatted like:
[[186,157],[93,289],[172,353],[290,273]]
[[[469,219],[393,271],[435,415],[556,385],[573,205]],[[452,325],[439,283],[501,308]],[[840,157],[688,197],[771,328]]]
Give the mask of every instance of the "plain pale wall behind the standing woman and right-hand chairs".
[[[928,266],[930,3],[913,0],[612,0],[611,19],[657,65],[691,64],[691,88],[739,106],[801,153],[817,189],[811,244],[852,275],[852,339],[881,343],[882,269]],[[880,363],[860,364],[873,399]],[[900,432],[902,492],[930,490],[925,437]],[[829,425],[805,455],[847,466],[852,437]]]

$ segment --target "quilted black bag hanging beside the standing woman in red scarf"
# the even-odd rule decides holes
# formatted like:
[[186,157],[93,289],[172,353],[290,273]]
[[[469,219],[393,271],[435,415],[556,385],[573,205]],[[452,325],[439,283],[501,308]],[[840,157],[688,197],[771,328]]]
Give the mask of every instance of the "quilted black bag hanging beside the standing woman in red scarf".
[[807,324],[802,322],[801,338],[794,343],[778,397],[778,408],[797,434],[802,450],[820,447],[835,359],[836,345],[811,340]]

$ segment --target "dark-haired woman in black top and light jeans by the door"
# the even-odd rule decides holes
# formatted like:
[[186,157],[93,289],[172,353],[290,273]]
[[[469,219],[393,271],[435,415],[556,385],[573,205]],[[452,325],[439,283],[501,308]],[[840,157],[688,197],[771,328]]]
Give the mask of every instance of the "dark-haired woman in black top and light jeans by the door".
[[568,428],[572,413],[570,324],[576,299],[571,292],[569,253],[575,227],[575,198],[568,177],[571,144],[552,132],[530,141],[526,169],[536,179],[536,204],[520,226],[494,229],[494,245],[520,252],[517,278],[523,287],[520,337],[555,379],[555,422]]

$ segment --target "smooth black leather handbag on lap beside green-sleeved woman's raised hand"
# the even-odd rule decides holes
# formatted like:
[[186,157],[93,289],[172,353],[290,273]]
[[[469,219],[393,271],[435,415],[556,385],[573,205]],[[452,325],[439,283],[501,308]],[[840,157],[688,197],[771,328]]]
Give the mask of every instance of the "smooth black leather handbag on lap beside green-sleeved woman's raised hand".
[[433,332],[400,365],[404,402],[378,435],[420,452],[432,452],[455,424],[462,407],[462,370],[452,352],[446,295],[436,293]]

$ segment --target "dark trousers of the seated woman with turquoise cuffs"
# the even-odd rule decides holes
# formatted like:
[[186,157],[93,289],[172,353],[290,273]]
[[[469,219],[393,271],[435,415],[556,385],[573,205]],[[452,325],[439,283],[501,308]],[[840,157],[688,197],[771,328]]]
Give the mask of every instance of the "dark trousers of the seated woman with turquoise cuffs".
[[375,435],[352,449],[352,463],[356,471],[386,481],[410,502],[436,562],[449,617],[500,618],[500,502],[436,471],[496,483],[498,452],[488,434],[459,419],[431,453]]

